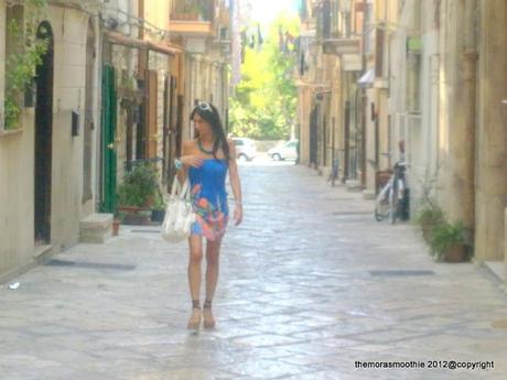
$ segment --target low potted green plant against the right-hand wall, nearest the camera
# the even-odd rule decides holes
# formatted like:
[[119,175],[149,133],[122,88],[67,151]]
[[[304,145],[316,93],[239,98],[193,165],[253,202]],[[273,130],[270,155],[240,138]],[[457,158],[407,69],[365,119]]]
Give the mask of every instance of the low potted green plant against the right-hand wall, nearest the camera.
[[436,260],[462,262],[466,258],[465,228],[462,222],[442,221],[431,231],[430,247]]

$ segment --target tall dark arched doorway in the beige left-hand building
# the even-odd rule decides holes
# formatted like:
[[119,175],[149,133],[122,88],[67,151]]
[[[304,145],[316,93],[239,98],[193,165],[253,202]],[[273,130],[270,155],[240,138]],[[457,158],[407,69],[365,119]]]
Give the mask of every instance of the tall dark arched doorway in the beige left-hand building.
[[51,241],[51,164],[53,141],[53,65],[54,39],[47,21],[37,29],[37,39],[46,39],[47,52],[42,64],[35,70],[35,163],[34,163],[34,202],[35,202],[35,242]]

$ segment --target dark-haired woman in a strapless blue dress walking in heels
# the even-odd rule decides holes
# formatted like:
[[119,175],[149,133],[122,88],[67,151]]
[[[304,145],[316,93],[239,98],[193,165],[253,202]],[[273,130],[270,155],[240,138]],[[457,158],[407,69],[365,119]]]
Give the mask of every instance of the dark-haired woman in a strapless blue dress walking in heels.
[[[230,186],[236,202],[236,226],[242,220],[241,184],[236,164],[236,149],[226,139],[217,109],[205,101],[198,102],[191,115],[196,139],[183,143],[183,155],[176,160],[177,178],[181,183],[188,176],[196,221],[188,238],[188,284],[192,296],[192,315],[187,327],[198,329],[201,318],[204,327],[215,327],[212,302],[218,281],[219,252],[229,208],[225,181],[229,172]],[[201,310],[201,282],[203,240],[206,239],[206,291]]]

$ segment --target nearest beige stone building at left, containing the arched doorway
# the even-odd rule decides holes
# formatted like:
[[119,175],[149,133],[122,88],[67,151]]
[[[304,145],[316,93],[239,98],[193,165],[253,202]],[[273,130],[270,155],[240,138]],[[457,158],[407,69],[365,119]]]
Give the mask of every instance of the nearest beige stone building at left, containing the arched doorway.
[[0,99],[8,96],[6,64],[22,41],[6,25],[30,22],[47,41],[32,89],[18,99],[15,126],[0,102],[0,278],[76,243],[80,220],[95,211],[100,28],[89,13],[98,6],[50,1],[33,10],[0,1]]

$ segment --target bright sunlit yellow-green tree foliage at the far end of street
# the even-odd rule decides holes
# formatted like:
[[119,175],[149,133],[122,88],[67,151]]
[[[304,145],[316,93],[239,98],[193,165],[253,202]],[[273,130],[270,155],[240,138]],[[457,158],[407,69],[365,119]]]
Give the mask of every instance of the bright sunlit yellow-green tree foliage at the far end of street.
[[278,28],[298,35],[298,19],[279,17],[260,51],[246,47],[242,79],[230,99],[230,132],[238,137],[279,140],[290,137],[298,93],[292,80],[293,52],[281,52]]

